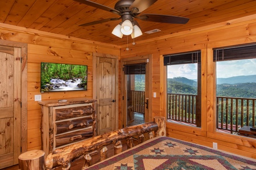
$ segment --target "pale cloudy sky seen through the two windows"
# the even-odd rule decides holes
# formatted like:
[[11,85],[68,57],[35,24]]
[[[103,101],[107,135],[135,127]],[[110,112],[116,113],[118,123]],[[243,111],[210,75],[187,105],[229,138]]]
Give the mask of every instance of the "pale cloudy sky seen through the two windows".
[[[256,75],[256,59],[221,61],[216,65],[217,78],[228,78],[238,75]],[[197,79],[197,63],[167,66],[168,78],[183,76]]]

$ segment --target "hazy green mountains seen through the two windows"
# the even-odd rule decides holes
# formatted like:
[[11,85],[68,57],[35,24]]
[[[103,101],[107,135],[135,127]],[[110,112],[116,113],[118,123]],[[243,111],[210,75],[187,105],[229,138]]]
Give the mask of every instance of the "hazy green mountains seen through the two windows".
[[[197,82],[184,77],[167,79],[167,92],[197,94]],[[217,96],[256,98],[256,75],[217,79]]]

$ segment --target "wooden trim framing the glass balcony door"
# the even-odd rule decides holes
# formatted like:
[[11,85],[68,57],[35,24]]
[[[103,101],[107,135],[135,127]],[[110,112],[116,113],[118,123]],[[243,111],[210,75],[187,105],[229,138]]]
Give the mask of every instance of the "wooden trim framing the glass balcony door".
[[[125,73],[122,71],[122,68],[125,64],[133,64],[139,62],[147,62],[148,67],[148,116],[145,116],[145,122],[152,120],[152,55],[144,55],[144,56],[137,56],[137,57],[130,57],[130,58],[122,58],[121,59],[121,98],[126,99],[125,90],[126,90],[126,80],[125,80]],[[145,94],[146,95],[146,94]],[[125,113],[127,112],[126,107],[126,100],[121,101],[121,124],[122,128],[126,127],[126,116]],[[146,120],[147,118],[147,120]]]

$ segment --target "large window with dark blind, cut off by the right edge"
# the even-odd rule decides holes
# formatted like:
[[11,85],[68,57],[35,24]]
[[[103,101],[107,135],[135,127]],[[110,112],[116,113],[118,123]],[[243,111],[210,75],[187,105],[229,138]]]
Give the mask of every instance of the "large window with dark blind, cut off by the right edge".
[[216,62],[217,130],[239,133],[255,126],[256,45],[213,50]]

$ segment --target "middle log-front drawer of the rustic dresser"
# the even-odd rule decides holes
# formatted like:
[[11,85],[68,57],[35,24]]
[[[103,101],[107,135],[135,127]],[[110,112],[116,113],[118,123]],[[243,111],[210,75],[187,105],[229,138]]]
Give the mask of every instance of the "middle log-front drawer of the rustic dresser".
[[73,130],[88,128],[93,125],[92,117],[76,118],[55,122],[56,134],[66,133]]

